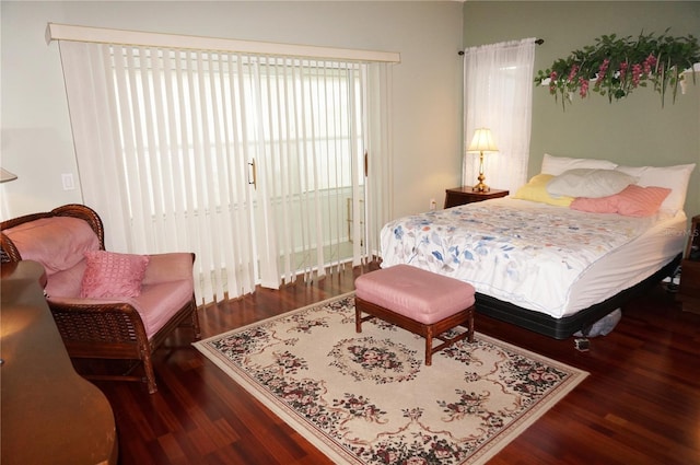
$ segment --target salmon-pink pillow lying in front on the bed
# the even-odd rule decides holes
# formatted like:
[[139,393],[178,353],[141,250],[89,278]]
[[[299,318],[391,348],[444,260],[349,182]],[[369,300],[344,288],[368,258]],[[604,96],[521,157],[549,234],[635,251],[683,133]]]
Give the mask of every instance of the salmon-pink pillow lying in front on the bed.
[[593,213],[618,213],[625,217],[651,217],[661,208],[670,189],[666,187],[641,187],[630,184],[612,196],[587,198],[578,197],[571,202],[574,210]]

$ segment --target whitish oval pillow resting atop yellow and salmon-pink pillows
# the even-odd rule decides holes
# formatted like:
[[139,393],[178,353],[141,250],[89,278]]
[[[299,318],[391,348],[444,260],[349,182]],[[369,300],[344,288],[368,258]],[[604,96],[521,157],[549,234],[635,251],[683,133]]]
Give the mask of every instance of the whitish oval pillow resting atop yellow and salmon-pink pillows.
[[552,177],[547,191],[551,196],[599,198],[618,194],[638,181],[616,170],[575,168]]

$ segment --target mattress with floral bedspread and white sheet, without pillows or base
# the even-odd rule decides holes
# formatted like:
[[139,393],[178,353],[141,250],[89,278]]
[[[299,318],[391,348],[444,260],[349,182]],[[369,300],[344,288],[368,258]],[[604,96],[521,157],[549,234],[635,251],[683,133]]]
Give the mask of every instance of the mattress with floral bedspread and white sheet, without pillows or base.
[[382,266],[406,263],[562,318],[670,263],[682,251],[685,231],[682,211],[632,218],[506,197],[387,223]]

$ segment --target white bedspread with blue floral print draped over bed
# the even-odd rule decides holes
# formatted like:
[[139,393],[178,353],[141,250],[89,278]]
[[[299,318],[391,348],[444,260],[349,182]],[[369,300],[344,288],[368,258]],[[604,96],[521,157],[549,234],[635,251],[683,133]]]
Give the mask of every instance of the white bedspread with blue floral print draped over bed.
[[413,265],[560,317],[578,277],[652,224],[649,218],[489,200],[387,223],[382,230],[382,266]]

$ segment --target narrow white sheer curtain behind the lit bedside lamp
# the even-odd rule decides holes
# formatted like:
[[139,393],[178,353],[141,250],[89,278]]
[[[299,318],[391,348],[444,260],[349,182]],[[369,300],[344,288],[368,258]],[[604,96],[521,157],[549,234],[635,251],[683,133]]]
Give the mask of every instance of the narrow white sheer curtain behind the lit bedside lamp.
[[[464,54],[465,150],[475,129],[491,129],[498,153],[485,154],[486,184],[514,193],[527,177],[535,38],[469,47]],[[477,184],[479,155],[464,159],[463,185]]]

